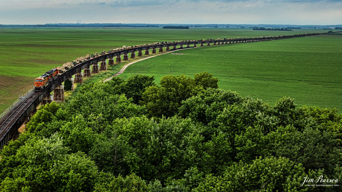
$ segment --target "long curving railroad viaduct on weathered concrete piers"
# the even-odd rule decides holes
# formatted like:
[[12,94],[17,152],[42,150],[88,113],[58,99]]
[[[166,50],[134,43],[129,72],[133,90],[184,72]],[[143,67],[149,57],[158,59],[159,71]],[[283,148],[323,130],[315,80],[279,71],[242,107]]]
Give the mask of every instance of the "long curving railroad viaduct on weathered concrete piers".
[[[341,32],[341,31],[338,31]],[[73,68],[62,73],[56,80],[46,86],[42,91],[32,91],[24,98],[22,98],[11,110],[9,110],[0,120],[0,150],[11,140],[16,139],[19,135],[18,128],[28,121],[29,117],[36,111],[39,104],[47,104],[51,101],[64,101],[64,88],[62,83],[66,80],[71,82],[83,83],[83,77],[91,77],[92,73],[99,73],[99,71],[107,70],[106,59],[108,59],[108,65],[115,65],[115,63],[121,63],[122,60],[128,60],[128,54],[130,58],[135,58],[135,52],[138,52],[138,56],[149,55],[149,50],[152,50],[152,54],[157,52],[163,52],[163,48],[166,47],[166,51],[177,49],[176,46],[180,46],[178,49],[186,49],[190,47],[221,45],[221,44],[234,44],[234,43],[247,43],[247,42],[259,42],[270,41],[278,39],[287,39],[293,37],[305,37],[321,35],[324,33],[308,33],[299,35],[288,36],[275,36],[275,37],[260,37],[260,38],[236,38],[236,39],[221,39],[221,40],[201,40],[201,41],[181,41],[172,43],[152,44],[146,46],[139,46],[130,48],[127,50],[121,50],[116,52],[100,55],[95,58],[91,58],[84,61],[81,64],[74,66]],[[193,46],[190,46],[193,45]],[[115,61],[114,61],[115,58]],[[100,62],[100,66],[99,63]],[[92,66],[92,67],[91,67]],[[82,72],[83,70],[83,72]],[[75,75],[73,79],[72,76]],[[50,93],[53,92],[53,96]]]

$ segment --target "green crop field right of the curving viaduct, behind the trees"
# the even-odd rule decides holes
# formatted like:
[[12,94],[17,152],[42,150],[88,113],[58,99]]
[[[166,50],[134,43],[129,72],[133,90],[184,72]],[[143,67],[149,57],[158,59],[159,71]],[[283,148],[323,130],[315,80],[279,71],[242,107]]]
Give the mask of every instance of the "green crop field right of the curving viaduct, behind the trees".
[[314,36],[180,50],[131,65],[122,74],[208,71],[219,87],[274,104],[283,96],[298,105],[342,109],[342,37]]

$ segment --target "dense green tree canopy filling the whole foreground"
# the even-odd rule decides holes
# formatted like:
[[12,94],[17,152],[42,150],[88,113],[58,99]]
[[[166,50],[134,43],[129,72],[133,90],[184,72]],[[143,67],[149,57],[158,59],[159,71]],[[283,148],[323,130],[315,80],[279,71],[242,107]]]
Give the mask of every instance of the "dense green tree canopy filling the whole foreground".
[[[0,152],[0,191],[341,191],[342,115],[194,78],[136,75],[41,106]],[[311,183],[310,183],[311,184]]]

